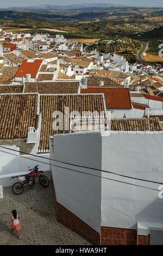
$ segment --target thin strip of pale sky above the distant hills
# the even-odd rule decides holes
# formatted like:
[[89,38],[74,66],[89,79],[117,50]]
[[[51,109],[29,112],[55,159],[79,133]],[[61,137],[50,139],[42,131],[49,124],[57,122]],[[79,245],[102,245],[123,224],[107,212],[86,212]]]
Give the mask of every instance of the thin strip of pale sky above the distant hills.
[[125,4],[132,6],[146,6],[146,7],[163,7],[162,0],[5,0],[0,2],[0,8],[12,7],[12,6],[33,6],[40,4],[52,4],[52,5],[67,5],[77,3],[114,3]]

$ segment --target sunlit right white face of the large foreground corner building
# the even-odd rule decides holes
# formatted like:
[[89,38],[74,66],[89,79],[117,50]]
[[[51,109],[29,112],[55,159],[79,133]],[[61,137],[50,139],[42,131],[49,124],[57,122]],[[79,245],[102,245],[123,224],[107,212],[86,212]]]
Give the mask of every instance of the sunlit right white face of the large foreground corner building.
[[[139,179],[163,182],[163,135],[115,133],[102,137],[102,169]],[[115,147],[116,145],[116,147]],[[134,181],[113,174],[106,178],[155,188],[159,184]],[[102,179],[102,226],[134,228],[137,222],[160,223],[163,200],[158,191]]]

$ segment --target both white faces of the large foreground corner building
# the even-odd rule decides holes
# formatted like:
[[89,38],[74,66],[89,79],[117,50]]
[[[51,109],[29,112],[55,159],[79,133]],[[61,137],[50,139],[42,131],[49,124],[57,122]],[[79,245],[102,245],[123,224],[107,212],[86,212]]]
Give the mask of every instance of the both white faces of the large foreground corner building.
[[[82,132],[55,136],[52,143],[51,158],[59,161],[163,183],[162,132]],[[101,175],[97,170],[54,161],[53,164]],[[143,234],[155,223],[163,227],[163,199],[158,198],[159,191],[115,180],[155,190],[159,184],[110,173],[103,173],[101,179],[54,166],[52,173],[58,203],[99,233],[100,225],[137,229],[137,222],[146,222],[141,229]]]

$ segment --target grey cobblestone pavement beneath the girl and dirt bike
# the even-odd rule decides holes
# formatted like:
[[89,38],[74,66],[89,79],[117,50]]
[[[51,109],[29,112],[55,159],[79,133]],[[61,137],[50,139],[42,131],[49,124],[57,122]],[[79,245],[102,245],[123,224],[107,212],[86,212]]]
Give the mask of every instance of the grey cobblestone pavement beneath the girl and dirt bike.
[[[21,239],[9,230],[11,210],[21,218]],[[82,237],[56,221],[52,187],[26,188],[17,196],[4,188],[0,199],[0,245],[89,245]]]

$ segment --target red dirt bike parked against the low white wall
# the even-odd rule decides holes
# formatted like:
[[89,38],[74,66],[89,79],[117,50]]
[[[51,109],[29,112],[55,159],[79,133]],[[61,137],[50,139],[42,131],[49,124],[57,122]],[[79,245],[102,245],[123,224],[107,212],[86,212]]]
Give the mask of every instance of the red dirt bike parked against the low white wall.
[[[32,172],[30,172],[32,171]],[[24,187],[33,187],[35,185],[35,179],[39,176],[39,181],[40,184],[43,187],[48,187],[49,185],[49,180],[47,178],[47,176],[42,175],[41,173],[43,173],[41,170],[39,170],[38,166],[35,166],[33,169],[29,169],[28,172],[30,172],[29,174],[26,175],[19,175],[19,176],[13,176],[11,177],[11,179],[20,179],[22,182],[16,182],[13,186],[12,186],[12,192],[14,194],[21,194],[24,191]]]

